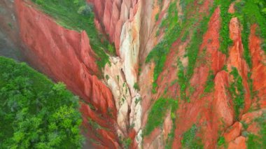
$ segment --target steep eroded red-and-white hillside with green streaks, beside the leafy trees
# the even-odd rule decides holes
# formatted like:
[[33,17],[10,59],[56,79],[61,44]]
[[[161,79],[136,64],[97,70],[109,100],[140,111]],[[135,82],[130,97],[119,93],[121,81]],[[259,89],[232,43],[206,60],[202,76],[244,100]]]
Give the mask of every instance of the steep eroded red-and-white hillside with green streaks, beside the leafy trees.
[[14,4],[27,62],[81,98],[95,148],[266,146],[265,1]]

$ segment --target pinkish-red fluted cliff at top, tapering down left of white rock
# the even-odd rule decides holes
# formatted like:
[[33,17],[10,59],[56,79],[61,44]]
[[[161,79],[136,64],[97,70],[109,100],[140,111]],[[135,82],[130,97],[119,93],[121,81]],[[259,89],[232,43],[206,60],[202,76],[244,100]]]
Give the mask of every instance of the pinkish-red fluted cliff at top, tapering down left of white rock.
[[[96,14],[95,24],[98,29],[104,30],[109,40],[116,45],[116,53],[120,55],[120,34],[123,24],[132,19],[136,13],[133,6],[138,0],[87,0],[94,5]],[[102,24],[99,25],[99,24]]]

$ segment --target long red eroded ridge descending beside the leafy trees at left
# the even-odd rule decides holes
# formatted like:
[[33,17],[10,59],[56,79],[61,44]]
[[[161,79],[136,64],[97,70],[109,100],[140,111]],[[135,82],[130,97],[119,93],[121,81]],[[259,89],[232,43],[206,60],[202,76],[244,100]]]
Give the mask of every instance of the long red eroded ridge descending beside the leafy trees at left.
[[[85,31],[78,33],[60,27],[27,1],[16,0],[15,7],[20,36],[28,48],[24,52],[31,64],[55,80],[63,81],[85,103],[94,106],[92,111],[87,104],[81,104],[85,127],[92,130],[87,119],[94,120],[102,127],[115,125],[116,107],[113,96],[109,88],[94,76],[99,70]],[[88,135],[96,137],[97,134],[91,132],[93,131],[88,131]],[[97,141],[101,141],[103,146],[119,146],[113,127],[109,130],[99,129],[97,132],[99,136],[103,136],[97,137]]]

